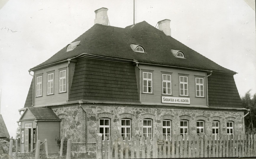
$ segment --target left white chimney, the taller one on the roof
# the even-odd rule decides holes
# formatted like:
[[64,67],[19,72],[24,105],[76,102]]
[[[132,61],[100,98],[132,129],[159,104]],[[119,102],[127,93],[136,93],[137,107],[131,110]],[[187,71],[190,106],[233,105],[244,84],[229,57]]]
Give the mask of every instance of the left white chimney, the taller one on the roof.
[[95,10],[94,24],[109,25],[109,18],[107,15],[108,8],[100,8]]

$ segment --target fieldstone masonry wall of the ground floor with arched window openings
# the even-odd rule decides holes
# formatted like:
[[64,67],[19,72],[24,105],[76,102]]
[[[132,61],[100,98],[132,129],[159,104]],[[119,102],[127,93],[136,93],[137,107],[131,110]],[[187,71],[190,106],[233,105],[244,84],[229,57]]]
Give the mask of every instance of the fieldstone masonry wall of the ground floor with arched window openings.
[[[83,109],[86,110],[84,112]],[[204,120],[205,134],[212,134],[212,121],[219,121],[219,133],[227,134],[227,121],[234,122],[234,134],[243,133],[243,111],[227,109],[208,109],[193,107],[127,105],[127,104],[98,104],[83,103],[52,107],[61,118],[65,118],[67,125],[63,129],[66,137],[87,147],[81,148],[87,152],[95,151],[96,133],[99,133],[99,118],[110,118],[110,133],[121,135],[121,119],[131,119],[132,136],[143,136],[143,122],[145,118],[152,119],[153,135],[162,134],[162,120],[171,120],[172,135],[180,134],[180,120],[188,120],[188,132],[196,134],[196,121]],[[86,118],[87,116],[87,118]]]

